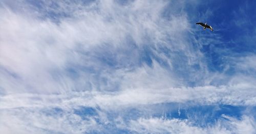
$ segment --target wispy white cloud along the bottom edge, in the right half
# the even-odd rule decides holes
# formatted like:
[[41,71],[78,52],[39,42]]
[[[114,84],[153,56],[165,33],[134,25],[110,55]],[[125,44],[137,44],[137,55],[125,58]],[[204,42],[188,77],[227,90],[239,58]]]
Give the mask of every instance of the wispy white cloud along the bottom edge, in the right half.
[[[130,129],[138,133],[253,133],[255,121],[244,116],[242,120],[227,117],[232,121],[220,120],[215,126],[193,126],[187,120],[140,118],[131,121]],[[245,125],[246,124],[246,125]],[[230,129],[231,128],[231,129]]]

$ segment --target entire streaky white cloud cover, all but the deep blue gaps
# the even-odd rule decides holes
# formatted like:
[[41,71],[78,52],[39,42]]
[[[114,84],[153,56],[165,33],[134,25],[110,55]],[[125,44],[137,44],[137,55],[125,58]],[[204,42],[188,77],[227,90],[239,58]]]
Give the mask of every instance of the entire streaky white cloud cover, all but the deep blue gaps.
[[[53,3],[58,8],[51,7]],[[184,11],[179,16],[162,16],[167,4],[42,1],[38,8],[25,1],[2,2],[0,132],[82,133],[104,129],[92,117],[83,120],[73,114],[79,106],[99,106],[103,111],[98,113],[99,120],[108,124],[104,111],[141,104],[195,101],[255,105],[254,77],[240,74],[224,85],[210,85],[226,75],[208,71],[198,50],[203,41],[190,37],[193,29]],[[173,11],[180,8],[169,6]],[[49,16],[51,13],[63,16]],[[205,43],[211,42],[214,40]],[[247,66],[254,65],[248,62],[239,67]],[[189,87],[188,81],[196,82],[196,86]],[[62,115],[44,112],[54,108],[62,109]],[[233,120],[234,126],[243,127],[237,122],[248,120],[253,122],[249,117],[242,122]],[[126,129],[127,122],[121,117],[115,121]],[[188,121],[158,118],[131,121],[129,128],[138,132],[151,132],[149,128],[159,133],[206,132]],[[247,128],[242,130],[253,130]],[[219,126],[208,129],[229,132]]]

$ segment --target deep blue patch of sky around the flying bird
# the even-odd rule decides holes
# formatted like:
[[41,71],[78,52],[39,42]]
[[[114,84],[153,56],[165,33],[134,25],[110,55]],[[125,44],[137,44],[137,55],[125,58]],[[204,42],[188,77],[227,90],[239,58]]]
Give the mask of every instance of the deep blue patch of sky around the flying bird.
[[[187,12],[192,21],[208,22],[215,29],[220,37],[206,37],[208,39],[215,38],[219,42],[207,44],[203,43],[202,52],[209,59],[209,69],[212,71],[223,72],[225,65],[232,64],[230,59],[246,56],[249,53],[255,53],[255,32],[253,31],[253,23],[256,22],[254,1],[209,1],[197,6]],[[205,14],[208,14],[205,16]],[[203,20],[200,20],[201,18]],[[241,24],[240,24],[241,23]],[[199,37],[209,34],[209,32],[201,31]],[[231,65],[232,66],[232,65]],[[227,74],[236,73],[231,67],[227,70]]]

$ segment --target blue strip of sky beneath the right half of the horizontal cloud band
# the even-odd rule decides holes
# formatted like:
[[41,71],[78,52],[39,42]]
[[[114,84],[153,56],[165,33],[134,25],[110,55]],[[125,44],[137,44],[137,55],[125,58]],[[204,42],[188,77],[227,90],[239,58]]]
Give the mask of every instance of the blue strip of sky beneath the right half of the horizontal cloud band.
[[245,112],[245,106],[233,105],[191,105],[179,103],[163,103],[157,106],[158,110],[153,114],[154,117],[162,119],[187,119],[194,125],[206,127],[216,125],[218,120],[223,120],[222,115],[241,119]]

